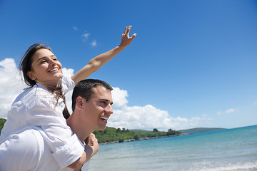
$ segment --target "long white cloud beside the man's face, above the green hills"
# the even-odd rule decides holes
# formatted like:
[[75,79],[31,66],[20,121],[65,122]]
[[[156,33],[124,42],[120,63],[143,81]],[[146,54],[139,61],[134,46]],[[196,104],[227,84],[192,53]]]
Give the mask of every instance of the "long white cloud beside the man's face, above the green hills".
[[[126,129],[158,130],[193,128],[201,123],[208,123],[211,118],[207,115],[194,118],[173,118],[168,111],[155,108],[153,105],[127,106],[129,97],[126,90],[114,88],[112,91],[114,99],[114,114],[109,119],[108,126]],[[117,109],[119,108],[119,109]]]

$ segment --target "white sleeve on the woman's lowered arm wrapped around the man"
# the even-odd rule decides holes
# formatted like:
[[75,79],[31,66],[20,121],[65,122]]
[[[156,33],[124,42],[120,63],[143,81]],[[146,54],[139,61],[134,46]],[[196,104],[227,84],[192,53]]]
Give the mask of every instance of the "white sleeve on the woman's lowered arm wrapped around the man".
[[66,120],[60,111],[62,108],[59,105],[51,106],[55,104],[49,103],[46,98],[37,99],[40,103],[37,102],[31,106],[26,120],[30,120],[31,125],[39,126],[44,131],[46,135],[44,140],[53,152],[56,162],[61,167],[71,165],[81,157],[84,144],[66,125]]

